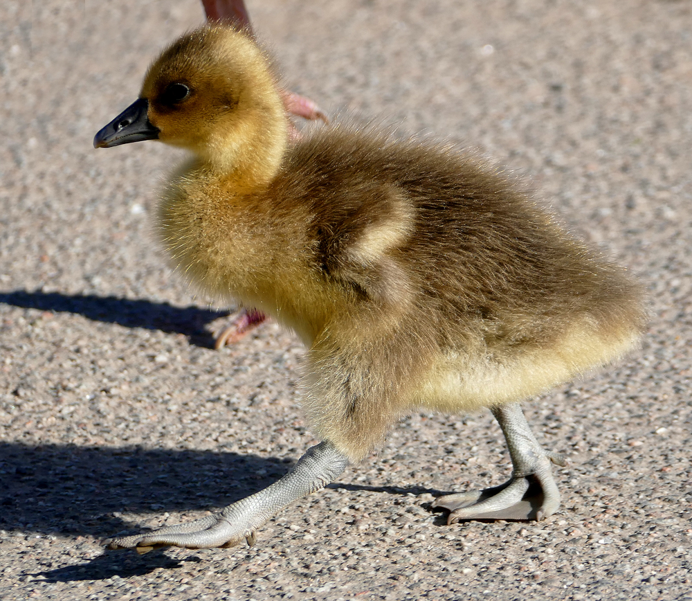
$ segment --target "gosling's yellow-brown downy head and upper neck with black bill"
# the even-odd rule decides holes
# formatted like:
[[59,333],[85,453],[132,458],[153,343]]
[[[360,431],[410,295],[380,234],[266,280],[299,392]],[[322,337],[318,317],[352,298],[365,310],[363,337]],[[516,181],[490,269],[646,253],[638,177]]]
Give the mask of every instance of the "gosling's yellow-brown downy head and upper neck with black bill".
[[228,26],[183,35],[149,67],[136,102],[96,134],[96,148],[142,140],[186,148],[213,167],[266,179],[287,123],[268,61]]

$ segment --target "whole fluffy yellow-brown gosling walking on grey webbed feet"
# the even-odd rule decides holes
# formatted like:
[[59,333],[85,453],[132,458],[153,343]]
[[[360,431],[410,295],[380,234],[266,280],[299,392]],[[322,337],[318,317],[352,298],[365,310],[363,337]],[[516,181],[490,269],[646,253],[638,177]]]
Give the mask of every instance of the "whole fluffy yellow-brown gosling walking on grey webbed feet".
[[219,516],[112,548],[230,546],[324,486],[418,409],[488,407],[514,465],[502,487],[437,500],[450,522],[540,519],[559,494],[518,403],[635,346],[639,288],[473,156],[342,125],[286,145],[275,78],[233,28],[181,37],[96,147],[158,138],[192,153],[158,231],[174,265],[257,307],[308,348],[304,406],[322,442]]

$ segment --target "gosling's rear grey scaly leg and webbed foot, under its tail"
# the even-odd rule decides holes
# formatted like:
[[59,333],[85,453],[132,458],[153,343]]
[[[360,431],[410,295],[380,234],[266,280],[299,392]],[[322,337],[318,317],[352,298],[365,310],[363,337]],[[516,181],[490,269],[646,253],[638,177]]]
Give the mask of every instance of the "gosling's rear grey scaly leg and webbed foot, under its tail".
[[448,524],[466,519],[540,521],[554,514],[560,506],[560,493],[550,462],[564,466],[565,458],[540,447],[518,403],[491,411],[507,439],[513,466],[511,478],[485,490],[439,496],[432,507],[450,510]]

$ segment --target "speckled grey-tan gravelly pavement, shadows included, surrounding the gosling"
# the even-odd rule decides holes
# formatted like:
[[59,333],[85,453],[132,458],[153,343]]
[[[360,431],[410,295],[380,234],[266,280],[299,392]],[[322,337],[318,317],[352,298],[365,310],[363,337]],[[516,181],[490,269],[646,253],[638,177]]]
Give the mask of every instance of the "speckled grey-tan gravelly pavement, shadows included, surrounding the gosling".
[[[32,8],[33,4],[33,8]],[[477,147],[644,279],[640,352],[527,406],[565,451],[543,523],[444,525],[509,472],[489,415],[413,415],[251,549],[104,553],[257,490],[315,442],[302,350],[209,348],[149,232],[176,155],[91,148],[197,0],[0,7],[0,598],[692,599],[692,6],[251,0],[287,84],[330,114]]]

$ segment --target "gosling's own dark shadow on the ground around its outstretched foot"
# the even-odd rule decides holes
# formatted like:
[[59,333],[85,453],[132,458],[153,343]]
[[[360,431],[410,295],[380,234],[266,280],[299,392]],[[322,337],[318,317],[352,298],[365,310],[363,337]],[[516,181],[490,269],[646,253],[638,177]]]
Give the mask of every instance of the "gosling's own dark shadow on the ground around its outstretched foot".
[[[242,499],[283,476],[293,458],[224,451],[141,447],[28,446],[0,442],[0,530],[104,539],[140,531],[120,512],[203,512]],[[329,487],[385,494],[421,494],[422,487],[332,483]],[[138,517],[137,519],[145,519]],[[127,532],[125,532],[127,530]],[[104,552],[85,564],[31,574],[48,582],[144,575],[199,561],[161,550],[143,556]]]

